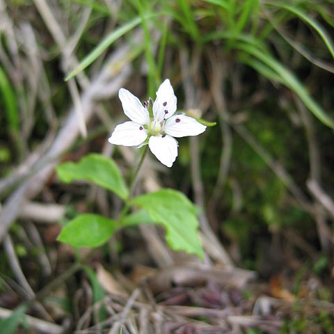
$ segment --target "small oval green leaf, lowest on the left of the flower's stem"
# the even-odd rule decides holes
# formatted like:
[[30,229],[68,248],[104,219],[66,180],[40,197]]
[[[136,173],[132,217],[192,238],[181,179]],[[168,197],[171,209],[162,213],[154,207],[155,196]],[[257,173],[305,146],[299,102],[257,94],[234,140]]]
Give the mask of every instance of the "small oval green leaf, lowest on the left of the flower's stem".
[[65,225],[58,241],[73,247],[95,248],[108,241],[117,228],[118,223],[113,219],[99,214],[81,214]]

